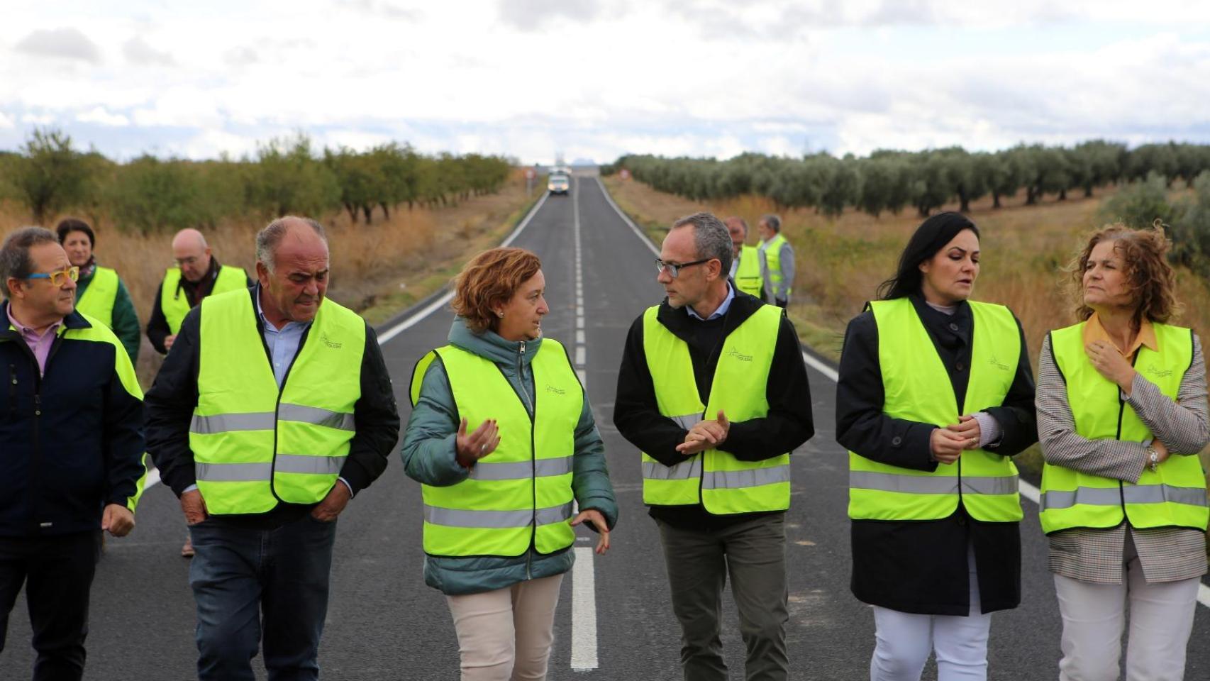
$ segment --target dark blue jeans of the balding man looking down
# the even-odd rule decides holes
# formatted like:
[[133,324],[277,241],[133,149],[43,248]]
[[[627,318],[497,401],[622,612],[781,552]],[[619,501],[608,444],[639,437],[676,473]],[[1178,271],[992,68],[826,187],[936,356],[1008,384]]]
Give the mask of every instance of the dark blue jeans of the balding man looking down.
[[198,680],[254,680],[261,639],[270,681],[318,679],[336,523],[307,514],[257,530],[207,519],[189,533]]

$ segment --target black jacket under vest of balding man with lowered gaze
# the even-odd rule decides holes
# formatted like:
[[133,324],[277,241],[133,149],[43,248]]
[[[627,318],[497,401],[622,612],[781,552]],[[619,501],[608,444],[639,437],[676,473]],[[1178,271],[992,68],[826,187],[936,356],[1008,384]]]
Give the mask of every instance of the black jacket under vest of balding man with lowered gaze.
[[[248,295],[255,296],[258,287],[248,289]],[[253,300],[253,308],[257,301]],[[148,451],[151,454],[160,479],[177,496],[185,487],[196,484],[194,475],[194,452],[189,449],[189,425],[197,405],[197,360],[201,352],[198,336],[201,333],[202,307],[198,305],[189,311],[180,324],[180,333],[168,353],[155,385],[148,391]],[[264,335],[260,316],[257,316],[257,329]],[[302,334],[299,352],[307,342],[310,328]],[[255,352],[255,348],[249,348]],[[261,342],[265,362],[271,362],[269,347]],[[296,357],[296,356],[295,356]],[[288,380],[288,379],[287,379]],[[340,477],[348,481],[356,495],[368,487],[382,471],[387,457],[399,439],[399,412],[394,404],[394,391],[391,377],[382,360],[378,336],[374,329],[365,325],[365,352],[362,357],[361,398],[353,405],[353,419],[357,433],[348,446],[348,458],[340,469]],[[339,484],[339,483],[338,483]],[[246,523],[257,526],[276,526],[301,516],[315,504],[290,504],[278,502],[273,510],[250,516],[224,515],[230,523]]]

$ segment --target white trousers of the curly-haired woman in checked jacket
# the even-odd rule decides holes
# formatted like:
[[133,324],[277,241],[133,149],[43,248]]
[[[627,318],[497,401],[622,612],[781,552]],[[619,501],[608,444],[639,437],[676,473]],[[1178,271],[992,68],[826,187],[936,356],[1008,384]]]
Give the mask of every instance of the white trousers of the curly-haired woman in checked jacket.
[[1130,542],[1127,558],[1120,584],[1055,575],[1062,614],[1060,681],[1117,681],[1128,600],[1127,681],[1185,677],[1185,651],[1193,630],[1200,579],[1148,584]]

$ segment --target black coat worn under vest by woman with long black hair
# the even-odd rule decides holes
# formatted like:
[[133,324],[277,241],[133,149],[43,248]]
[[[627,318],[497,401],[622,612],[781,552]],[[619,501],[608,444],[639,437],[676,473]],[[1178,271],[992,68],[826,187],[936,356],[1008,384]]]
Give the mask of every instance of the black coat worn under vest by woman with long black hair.
[[[911,296],[953,386],[966,399],[974,328],[970,306],[953,316]],[[1020,322],[1018,321],[1020,333]],[[904,360],[912,360],[904,357]],[[845,351],[836,383],[836,442],[845,449],[901,468],[934,471],[929,437],[935,426],[882,412],[885,393],[878,362],[878,327],[872,312],[853,318],[845,334]],[[1002,438],[989,451],[1013,456],[1037,442],[1033,374],[1021,333],[1016,375],[1002,406],[986,410],[1001,426]],[[1021,539],[1016,523],[980,523],[962,504],[950,518],[927,521],[853,520],[853,595],[859,600],[921,614],[969,612],[968,544],[974,547],[983,612],[1016,607],[1021,600]]]

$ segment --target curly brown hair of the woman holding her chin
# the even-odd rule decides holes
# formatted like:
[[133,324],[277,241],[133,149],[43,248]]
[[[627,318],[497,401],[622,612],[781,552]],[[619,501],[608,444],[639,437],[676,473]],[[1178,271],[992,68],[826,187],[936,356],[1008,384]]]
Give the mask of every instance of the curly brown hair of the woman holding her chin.
[[1076,299],[1076,317],[1083,322],[1093,316],[1093,308],[1084,305],[1084,269],[1093,255],[1093,248],[1102,241],[1112,241],[1113,250],[1125,261],[1125,275],[1134,293],[1135,322],[1143,317],[1164,323],[1180,314],[1176,302],[1176,272],[1168,264],[1168,250],[1172,242],[1164,235],[1164,225],[1156,220],[1150,230],[1130,229],[1122,223],[1105,225],[1095,231],[1084,249],[1071,261],[1067,270],[1072,276]]

